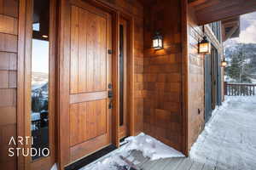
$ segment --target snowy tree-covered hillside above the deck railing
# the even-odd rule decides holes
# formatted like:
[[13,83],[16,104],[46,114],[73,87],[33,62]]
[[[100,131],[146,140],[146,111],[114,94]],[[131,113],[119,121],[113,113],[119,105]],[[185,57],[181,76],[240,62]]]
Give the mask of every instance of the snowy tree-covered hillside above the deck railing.
[[224,45],[227,82],[256,83],[256,43],[229,42]]

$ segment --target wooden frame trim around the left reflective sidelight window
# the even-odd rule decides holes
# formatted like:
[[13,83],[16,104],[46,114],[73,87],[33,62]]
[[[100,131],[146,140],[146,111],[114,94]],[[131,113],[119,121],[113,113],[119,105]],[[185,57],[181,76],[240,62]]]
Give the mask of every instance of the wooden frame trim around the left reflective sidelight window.
[[[17,169],[50,168],[55,163],[55,64],[56,55],[56,17],[57,0],[49,1],[49,150],[50,156],[32,161],[31,156],[18,156]],[[31,136],[31,61],[32,61],[32,0],[20,0],[19,37],[18,37],[18,73],[17,73],[17,136]],[[21,149],[31,144],[19,144]]]

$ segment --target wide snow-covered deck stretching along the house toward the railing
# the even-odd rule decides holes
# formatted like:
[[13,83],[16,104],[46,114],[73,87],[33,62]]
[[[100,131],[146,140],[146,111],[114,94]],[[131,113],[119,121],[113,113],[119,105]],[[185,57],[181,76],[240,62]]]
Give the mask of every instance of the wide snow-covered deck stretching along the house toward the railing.
[[256,169],[256,97],[226,97],[190,150],[195,161],[223,169]]

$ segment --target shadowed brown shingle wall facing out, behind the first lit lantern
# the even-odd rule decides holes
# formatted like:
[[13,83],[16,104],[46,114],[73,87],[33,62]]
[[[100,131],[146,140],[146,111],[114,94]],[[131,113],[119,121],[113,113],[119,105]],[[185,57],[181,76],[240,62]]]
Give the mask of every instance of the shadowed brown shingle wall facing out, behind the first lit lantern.
[[[144,132],[183,149],[181,3],[155,1],[144,9],[143,82]],[[169,17],[172,16],[172,17]],[[164,48],[154,50],[152,37],[160,31]]]

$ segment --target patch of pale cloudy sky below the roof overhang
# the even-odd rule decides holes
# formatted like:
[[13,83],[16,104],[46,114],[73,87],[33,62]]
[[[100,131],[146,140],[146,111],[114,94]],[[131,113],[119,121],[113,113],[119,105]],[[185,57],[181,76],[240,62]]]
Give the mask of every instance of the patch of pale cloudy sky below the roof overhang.
[[[241,15],[241,33],[239,38],[231,41],[243,43],[256,43],[256,12]],[[229,41],[229,40],[228,40]]]

